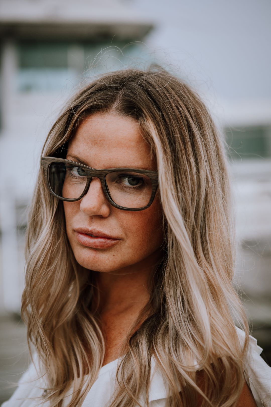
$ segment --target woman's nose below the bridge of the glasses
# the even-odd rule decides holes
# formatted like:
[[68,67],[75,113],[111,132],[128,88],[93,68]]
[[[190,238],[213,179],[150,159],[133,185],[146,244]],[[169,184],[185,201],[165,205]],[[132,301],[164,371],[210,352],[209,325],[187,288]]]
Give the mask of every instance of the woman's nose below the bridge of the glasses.
[[88,216],[99,215],[106,218],[110,214],[110,204],[104,195],[99,178],[91,179],[89,189],[80,201],[80,210]]

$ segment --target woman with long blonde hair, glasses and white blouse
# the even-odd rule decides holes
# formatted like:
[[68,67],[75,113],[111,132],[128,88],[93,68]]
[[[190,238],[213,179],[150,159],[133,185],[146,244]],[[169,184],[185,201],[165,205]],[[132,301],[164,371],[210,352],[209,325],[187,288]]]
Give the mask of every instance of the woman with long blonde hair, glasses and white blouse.
[[160,68],[96,79],[42,150],[22,298],[35,354],[3,406],[269,406],[234,253],[225,145],[197,94]]

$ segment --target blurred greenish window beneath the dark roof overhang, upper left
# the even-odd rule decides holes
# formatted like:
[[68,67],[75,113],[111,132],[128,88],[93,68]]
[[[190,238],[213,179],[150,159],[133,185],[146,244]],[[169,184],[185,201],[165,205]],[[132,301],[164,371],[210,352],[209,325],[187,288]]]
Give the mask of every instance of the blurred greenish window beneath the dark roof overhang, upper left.
[[83,77],[116,70],[139,54],[140,43],[98,40],[18,42],[19,92],[54,92],[71,89]]

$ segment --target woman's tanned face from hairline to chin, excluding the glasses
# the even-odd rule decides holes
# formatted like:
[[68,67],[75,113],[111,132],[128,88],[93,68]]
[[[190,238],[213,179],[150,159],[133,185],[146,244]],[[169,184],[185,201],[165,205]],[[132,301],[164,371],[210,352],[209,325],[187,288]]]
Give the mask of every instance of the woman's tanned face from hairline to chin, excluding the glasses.
[[[69,141],[66,158],[99,169],[157,169],[138,123],[114,114],[95,113],[82,120]],[[126,274],[151,267],[160,258],[163,212],[158,193],[145,210],[120,210],[107,201],[100,180],[93,177],[82,199],[63,201],[63,205],[69,243],[77,262],[83,267]],[[111,236],[115,240],[103,244],[101,239],[90,239],[78,232],[84,228],[94,235]]]

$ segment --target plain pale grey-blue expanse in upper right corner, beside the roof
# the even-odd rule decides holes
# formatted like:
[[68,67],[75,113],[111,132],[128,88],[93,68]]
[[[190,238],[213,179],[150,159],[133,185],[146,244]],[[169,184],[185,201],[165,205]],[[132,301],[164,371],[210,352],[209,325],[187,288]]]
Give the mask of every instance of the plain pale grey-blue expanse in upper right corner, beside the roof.
[[[134,0],[156,22],[147,44],[226,100],[271,98],[271,2]],[[203,83],[202,83],[203,82]]]

